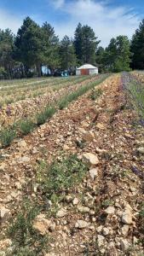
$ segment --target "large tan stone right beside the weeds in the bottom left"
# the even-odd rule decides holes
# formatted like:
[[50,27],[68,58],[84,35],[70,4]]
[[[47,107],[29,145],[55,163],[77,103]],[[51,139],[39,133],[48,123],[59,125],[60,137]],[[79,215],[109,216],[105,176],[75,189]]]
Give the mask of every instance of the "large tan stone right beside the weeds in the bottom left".
[[52,230],[55,230],[55,224],[51,220],[45,218],[44,214],[39,214],[33,221],[33,228],[41,235],[45,235]]

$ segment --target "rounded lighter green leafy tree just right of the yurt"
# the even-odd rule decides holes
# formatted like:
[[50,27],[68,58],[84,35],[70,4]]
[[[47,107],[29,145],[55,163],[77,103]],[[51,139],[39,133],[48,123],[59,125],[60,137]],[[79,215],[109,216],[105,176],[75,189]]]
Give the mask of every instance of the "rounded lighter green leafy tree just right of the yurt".
[[130,71],[130,41],[126,36],[112,38],[105,55],[105,67],[112,72]]

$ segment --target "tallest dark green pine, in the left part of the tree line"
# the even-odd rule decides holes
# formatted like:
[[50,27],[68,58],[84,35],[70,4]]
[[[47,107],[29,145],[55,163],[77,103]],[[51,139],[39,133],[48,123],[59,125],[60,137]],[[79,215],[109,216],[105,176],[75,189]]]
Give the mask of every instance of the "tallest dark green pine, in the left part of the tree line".
[[15,58],[24,63],[26,73],[36,67],[41,75],[43,63],[43,32],[30,17],[26,17],[15,38]]

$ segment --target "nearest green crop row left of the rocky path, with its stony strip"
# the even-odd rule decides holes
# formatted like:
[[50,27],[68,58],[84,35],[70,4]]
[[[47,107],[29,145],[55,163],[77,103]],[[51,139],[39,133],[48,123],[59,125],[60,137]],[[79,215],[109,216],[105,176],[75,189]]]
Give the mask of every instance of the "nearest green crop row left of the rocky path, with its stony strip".
[[37,125],[43,125],[58,109],[66,108],[70,102],[76,100],[78,96],[82,96],[87,90],[94,88],[96,84],[100,84],[106,78],[107,75],[95,76],[81,83],[62,88],[56,93],[49,94],[45,99],[42,97],[42,104],[40,102],[36,104],[35,102],[34,105],[31,102],[31,106],[26,105],[25,107],[29,107],[27,113],[24,106],[20,109],[19,114],[18,108],[15,108],[13,119],[11,119],[12,116],[9,113],[8,122],[3,123],[3,129],[0,132],[2,146],[9,146],[15,136],[26,135]]

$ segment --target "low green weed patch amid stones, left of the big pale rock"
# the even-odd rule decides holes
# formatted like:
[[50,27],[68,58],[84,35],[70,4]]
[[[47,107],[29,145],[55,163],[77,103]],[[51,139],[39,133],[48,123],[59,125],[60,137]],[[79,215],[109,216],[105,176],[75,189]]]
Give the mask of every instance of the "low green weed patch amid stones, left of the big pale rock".
[[42,162],[37,171],[37,182],[41,182],[43,193],[47,198],[54,199],[66,195],[80,183],[88,171],[88,166],[77,155],[72,154],[60,161],[55,160],[49,167]]

